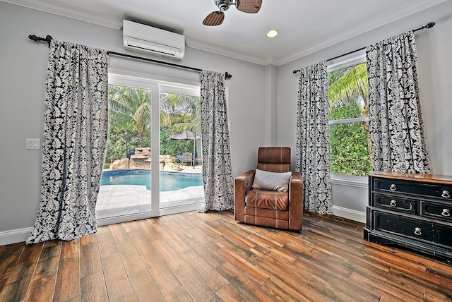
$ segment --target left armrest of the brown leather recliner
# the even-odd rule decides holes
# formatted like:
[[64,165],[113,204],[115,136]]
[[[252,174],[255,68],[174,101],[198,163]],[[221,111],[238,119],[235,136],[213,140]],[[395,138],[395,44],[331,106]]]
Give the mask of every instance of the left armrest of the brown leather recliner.
[[255,170],[249,170],[234,178],[234,219],[245,221],[245,195],[251,190],[254,181]]

